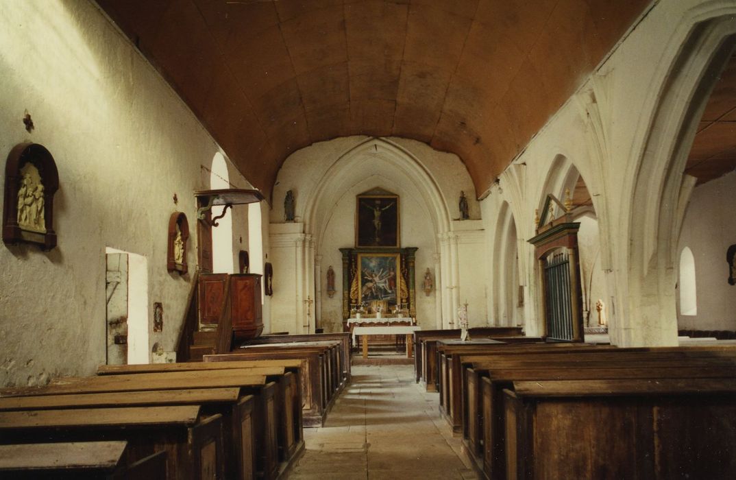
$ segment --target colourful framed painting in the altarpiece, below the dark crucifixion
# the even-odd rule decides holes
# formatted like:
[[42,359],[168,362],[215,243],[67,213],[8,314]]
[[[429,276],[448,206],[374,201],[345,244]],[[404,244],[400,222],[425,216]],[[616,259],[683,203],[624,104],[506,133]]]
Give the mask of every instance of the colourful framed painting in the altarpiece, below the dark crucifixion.
[[400,269],[399,253],[358,253],[358,303],[400,303]]

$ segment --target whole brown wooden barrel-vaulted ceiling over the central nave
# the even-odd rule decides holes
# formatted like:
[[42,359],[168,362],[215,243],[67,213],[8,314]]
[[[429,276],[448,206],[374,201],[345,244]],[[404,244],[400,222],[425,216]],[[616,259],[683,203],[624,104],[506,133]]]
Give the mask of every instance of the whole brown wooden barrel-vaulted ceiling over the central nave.
[[413,138],[478,194],[651,0],[97,0],[269,195],[291,152]]

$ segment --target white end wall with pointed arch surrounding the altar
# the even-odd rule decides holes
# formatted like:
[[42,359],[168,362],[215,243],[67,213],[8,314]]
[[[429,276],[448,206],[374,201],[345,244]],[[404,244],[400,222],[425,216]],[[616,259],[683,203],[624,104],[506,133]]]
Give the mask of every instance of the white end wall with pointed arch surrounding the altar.
[[[310,329],[316,314],[325,331],[339,330],[343,292],[338,249],[355,246],[355,195],[376,187],[400,195],[401,246],[419,247],[414,282],[422,328],[450,325],[466,299],[480,306],[471,322],[486,325],[485,273],[477,268],[478,258],[484,258],[484,238],[467,169],[456,155],[417,141],[359,136],[301,149],[280,169],[270,225],[273,328],[306,331],[310,319],[305,300],[315,300],[319,293],[311,305]],[[295,197],[295,222],[284,222],[283,198],[289,190]],[[467,221],[456,220],[460,191],[469,200]],[[330,266],[337,290],[332,298],[326,288]],[[421,289],[427,268],[436,287],[430,296]]]

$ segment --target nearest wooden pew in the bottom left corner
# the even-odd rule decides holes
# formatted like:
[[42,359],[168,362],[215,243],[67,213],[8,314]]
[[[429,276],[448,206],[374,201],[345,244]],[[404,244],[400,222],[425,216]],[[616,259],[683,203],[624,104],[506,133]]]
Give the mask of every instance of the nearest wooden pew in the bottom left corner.
[[127,442],[0,445],[0,478],[7,480],[138,480],[166,478],[166,451],[125,465]]

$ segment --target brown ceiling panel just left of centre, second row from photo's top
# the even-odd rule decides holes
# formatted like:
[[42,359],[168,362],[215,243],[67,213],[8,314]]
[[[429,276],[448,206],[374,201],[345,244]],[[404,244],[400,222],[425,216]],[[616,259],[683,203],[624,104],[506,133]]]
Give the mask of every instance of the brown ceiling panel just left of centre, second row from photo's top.
[[350,99],[347,62],[308,71],[297,77],[302,103],[307,112],[327,105],[347,105]]

